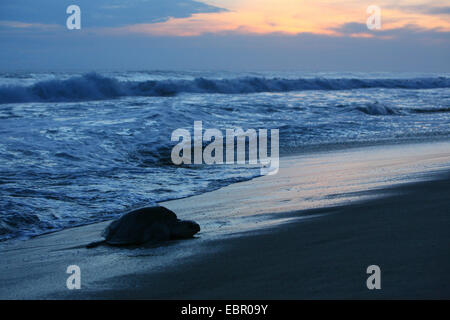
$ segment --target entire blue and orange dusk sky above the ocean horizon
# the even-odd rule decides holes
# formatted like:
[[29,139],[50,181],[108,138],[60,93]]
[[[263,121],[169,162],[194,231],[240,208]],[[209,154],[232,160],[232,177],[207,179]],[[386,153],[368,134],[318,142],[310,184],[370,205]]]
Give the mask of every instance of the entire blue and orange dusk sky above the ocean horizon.
[[[66,27],[69,5],[80,30]],[[450,3],[0,1],[0,71],[67,70],[450,72]]]

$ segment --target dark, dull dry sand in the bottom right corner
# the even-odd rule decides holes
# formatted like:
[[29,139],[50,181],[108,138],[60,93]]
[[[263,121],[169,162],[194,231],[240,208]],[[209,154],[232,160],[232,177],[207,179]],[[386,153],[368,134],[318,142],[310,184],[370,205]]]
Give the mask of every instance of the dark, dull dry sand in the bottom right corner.
[[[450,298],[450,179],[405,185],[364,204],[240,238],[163,271],[106,280],[111,289],[78,298],[415,299]],[[381,290],[366,287],[379,265]],[[74,297],[65,295],[66,298]]]

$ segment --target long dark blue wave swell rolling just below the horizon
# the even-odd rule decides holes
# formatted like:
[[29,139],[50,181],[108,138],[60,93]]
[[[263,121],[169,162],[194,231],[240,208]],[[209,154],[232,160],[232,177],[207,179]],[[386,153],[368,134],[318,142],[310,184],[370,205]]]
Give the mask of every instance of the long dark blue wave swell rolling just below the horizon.
[[173,96],[179,93],[246,94],[303,90],[450,88],[450,78],[329,79],[264,78],[119,81],[88,73],[65,80],[40,81],[30,86],[0,86],[0,103],[70,102],[105,100],[125,96]]

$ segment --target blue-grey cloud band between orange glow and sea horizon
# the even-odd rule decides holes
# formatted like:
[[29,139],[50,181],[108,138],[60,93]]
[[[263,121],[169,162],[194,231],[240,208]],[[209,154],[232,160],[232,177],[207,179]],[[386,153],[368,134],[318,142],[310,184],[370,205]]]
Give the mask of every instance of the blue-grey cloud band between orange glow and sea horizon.
[[[412,31],[415,30],[415,31]],[[0,69],[7,70],[290,70],[450,72],[449,34],[413,28],[363,38],[300,35],[138,34],[84,37],[2,36]]]

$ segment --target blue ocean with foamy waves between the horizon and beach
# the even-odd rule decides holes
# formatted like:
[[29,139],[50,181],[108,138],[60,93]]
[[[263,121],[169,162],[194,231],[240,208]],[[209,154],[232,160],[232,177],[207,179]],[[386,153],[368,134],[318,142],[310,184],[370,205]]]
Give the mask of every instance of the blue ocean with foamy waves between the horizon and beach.
[[448,140],[450,75],[0,73],[0,241],[104,221],[254,178],[174,165],[174,130],[279,129],[282,156]]

